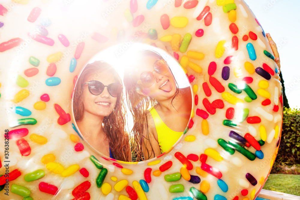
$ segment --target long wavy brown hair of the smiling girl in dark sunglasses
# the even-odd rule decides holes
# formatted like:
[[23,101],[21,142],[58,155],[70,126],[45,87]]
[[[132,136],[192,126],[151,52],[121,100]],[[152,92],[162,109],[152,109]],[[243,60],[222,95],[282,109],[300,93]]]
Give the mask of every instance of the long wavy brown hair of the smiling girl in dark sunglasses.
[[[122,85],[122,80],[119,74],[110,64],[104,61],[95,61],[91,64],[87,64],[81,75],[78,77],[77,85],[74,91],[73,112],[76,121],[82,120],[84,113],[82,84],[88,76],[95,75],[95,77],[97,77],[97,74],[103,72],[112,74],[116,82],[119,82]],[[129,162],[131,150],[129,145],[129,136],[125,132],[126,115],[122,90],[121,94],[117,97],[116,106],[113,112],[104,117],[103,130],[109,139],[110,150],[113,157],[116,160]]]

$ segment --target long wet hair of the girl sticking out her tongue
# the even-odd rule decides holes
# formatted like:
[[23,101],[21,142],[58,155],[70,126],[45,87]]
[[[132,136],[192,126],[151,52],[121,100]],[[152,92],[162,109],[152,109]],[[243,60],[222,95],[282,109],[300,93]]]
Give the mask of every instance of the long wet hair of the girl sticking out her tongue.
[[[164,58],[160,54],[152,50],[142,50],[138,52],[135,56],[139,59],[146,56],[148,57],[152,56],[160,60],[164,60]],[[171,71],[171,69],[169,70]],[[128,68],[125,69],[125,73],[124,73],[124,85],[125,85],[128,108],[134,120],[134,126],[131,130],[131,132],[134,135],[133,136],[134,138],[132,140],[135,143],[135,145],[133,146],[136,155],[134,156],[137,157],[137,161],[145,160],[144,159],[145,157],[148,157],[149,159],[152,156],[152,154],[154,155],[152,144],[150,143],[152,153],[149,155],[149,150],[147,149],[148,155],[145,155],[143,154],[142,142],[146,146],[146,142],[150,141],[149,127],[148,127],[148,118],[149,118],[148,109],[151,107],[155,107],[158,104],[158,101],[150,96],[144,96],[137,92],[138,90],[140,90],[139,85],[137,84],[137,78],[134,76],[134,73],[132,73],[132,70]],[[179,94],[179,86],[177,82],[176,85],[177,85],[177,89],[176,89],[175,96],[172,99],[172,102],[174,98]],[[146,133],[145,134],[146,136],[144,136],[143,133]]]

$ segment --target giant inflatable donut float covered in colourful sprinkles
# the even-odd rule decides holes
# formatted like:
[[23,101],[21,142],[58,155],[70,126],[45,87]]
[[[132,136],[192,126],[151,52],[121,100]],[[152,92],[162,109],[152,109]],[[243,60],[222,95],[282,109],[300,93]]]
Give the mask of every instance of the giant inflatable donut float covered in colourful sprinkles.
[[[280,142],[282,87],[265,32],[244,1],[7,0],[0,15],[0,199],[259,194]],[[80,137],[71,94],[95,54],[134,42],[178,60],[193,109],[172,149],[125,163]]]

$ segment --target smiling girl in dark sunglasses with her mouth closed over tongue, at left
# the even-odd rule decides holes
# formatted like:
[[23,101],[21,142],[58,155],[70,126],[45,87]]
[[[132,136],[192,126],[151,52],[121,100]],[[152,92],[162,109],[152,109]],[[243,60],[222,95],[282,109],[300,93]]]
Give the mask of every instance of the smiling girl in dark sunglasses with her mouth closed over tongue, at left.
[[92,147],[113,159],[130,162],[122,91],[122,80],[110,64],[87,64],[76,83],[73,112],[82,136]]

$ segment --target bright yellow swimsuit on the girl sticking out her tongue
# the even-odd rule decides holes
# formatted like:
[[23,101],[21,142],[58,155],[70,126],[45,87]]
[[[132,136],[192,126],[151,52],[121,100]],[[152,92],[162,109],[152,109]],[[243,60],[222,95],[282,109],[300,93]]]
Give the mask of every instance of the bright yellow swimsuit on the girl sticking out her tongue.
[[164,153],[177,142],[183,132],[176,132],[167,127],[154,108],[150,109],[150,113],[156,127],[158,144],[161,147],[161,153]]

